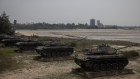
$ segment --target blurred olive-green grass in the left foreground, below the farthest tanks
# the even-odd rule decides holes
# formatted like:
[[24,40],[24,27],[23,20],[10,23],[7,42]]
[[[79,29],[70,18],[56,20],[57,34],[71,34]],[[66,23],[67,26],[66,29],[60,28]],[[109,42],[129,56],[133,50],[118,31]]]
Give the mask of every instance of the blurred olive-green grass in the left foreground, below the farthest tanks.
[[14,50],[16,48],[0,48],[0,73],[4,70],[15,69],[18,66],[16,60],[13,59]]

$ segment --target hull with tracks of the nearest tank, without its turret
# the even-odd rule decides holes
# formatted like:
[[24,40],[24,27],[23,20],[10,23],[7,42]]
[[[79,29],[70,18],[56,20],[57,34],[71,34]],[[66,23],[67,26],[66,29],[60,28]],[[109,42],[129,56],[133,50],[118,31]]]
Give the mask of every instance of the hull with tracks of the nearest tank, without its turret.
[[122,70],[128,64],[128,59],[119,55],[87,56],[85,59],[76,56],[74,61],[81,68],[89,71]]

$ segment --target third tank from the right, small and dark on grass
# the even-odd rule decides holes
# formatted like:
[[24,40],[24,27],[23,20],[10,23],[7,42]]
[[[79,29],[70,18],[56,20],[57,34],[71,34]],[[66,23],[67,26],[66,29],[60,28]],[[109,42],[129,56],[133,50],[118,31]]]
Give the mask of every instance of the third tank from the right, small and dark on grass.
[[26,41],[26,42],[17,42],[16,46],[19,48],[19,51],[25,50],[35,50],[36,47],[42,46],[43,43],[38,41]]

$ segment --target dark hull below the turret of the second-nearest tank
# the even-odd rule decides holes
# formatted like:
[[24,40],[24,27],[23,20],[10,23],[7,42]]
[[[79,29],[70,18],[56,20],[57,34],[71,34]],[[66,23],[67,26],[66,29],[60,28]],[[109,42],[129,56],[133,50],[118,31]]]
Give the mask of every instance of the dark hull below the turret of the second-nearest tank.
[[36,52],[43,57],[63,57],[70,56],[73,53],[71,47],[38,47]]

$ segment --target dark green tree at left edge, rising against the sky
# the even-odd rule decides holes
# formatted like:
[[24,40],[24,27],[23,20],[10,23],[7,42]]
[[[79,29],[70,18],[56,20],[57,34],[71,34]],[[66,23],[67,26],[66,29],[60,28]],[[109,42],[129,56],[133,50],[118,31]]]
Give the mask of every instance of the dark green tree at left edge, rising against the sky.
[[3,12],[0,15],[0,34],[14,34],[14,29],[12,27],[12,24],[10,23],[9,16],[6,15],[5,12]]

